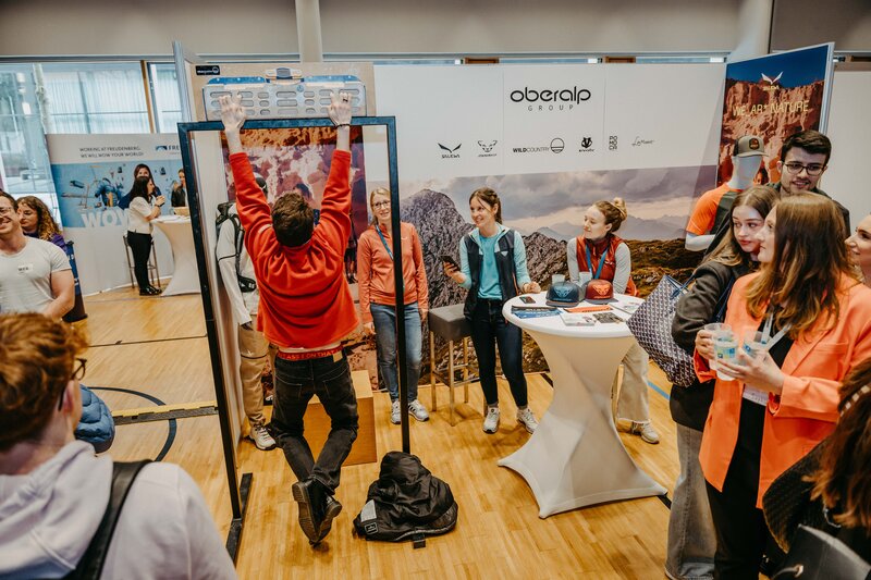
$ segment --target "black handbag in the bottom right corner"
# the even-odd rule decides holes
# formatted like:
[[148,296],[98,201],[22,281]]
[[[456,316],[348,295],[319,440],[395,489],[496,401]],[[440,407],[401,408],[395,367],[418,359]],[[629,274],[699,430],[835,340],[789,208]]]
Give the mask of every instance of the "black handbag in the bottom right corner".
[[772,580],[864,580],[871,565],[847,544],[823,531],[799,526],[783,567]]

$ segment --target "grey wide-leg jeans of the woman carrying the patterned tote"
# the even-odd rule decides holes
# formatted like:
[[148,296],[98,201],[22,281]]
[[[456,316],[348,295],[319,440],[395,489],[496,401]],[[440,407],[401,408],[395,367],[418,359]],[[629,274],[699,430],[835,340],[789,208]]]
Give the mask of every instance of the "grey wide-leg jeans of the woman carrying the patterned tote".
[[716,533],[699,464],[701,431],[676,427],[680,474],[674,484],[668,517],[665,573],[673,580],[710,580],[714,576]]

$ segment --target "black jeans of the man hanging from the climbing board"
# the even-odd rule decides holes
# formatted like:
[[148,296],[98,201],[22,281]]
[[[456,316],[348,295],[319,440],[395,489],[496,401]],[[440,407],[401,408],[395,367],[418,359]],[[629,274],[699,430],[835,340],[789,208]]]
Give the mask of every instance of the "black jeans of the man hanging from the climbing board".
[[[357,439],[357,397],[347,358],[342,353],[309,360],[275,358],[274,383],[272,428],[296,479],[312,477],[335,491],[342,464]],[[303,416],[312,395],[318,395],[332,421],[317,461],[303,436]]]

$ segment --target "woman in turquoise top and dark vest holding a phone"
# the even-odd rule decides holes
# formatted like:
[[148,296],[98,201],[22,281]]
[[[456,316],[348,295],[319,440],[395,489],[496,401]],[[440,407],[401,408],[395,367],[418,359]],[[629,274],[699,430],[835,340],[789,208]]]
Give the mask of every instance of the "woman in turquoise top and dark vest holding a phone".
[[502,225],[499,195],[489,187],[476,189],[469,197],[469,211],[475,230],[459,242],[461,266],[457,268],[455,263],[445,261],[444,272],[468,289],[464,313],[471,323],[471,343],[487,400],[483,432],[495,433],[499,430],[495,354],[499,345],[502,371],[517,405],[517,422],[533,433],[538,421],[527,405],[523,333],[505,320],[502,306],[519,293],[541,292],[541,287],[529,277],[523,237],[515,230]]

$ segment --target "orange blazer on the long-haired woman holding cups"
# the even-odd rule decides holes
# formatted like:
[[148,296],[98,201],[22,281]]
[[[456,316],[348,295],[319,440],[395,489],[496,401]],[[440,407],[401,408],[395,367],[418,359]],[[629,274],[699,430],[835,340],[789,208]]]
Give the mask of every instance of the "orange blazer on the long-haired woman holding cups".
[[[737,336],[757,330],[761,322],[747,312],[745,297],[748,284],[758,275],[746,275],[733,287],[726,323]],[[856,363],[871,357],[871,289],[847,276],[841,288],[846,296],[842,295],[835,325],[825,330],[818,324],[794,341],[781,368],[786,375],[783,393],[769,395],[757,507],[762,507],[762,495],[771,482],[832,432],[838,419],[841,382]],[[698,353],[695,362],[700,381],[714,377]],[[699,461],[704,479],[721,491],[738,441],[743,392],[740,381],[717,379],[704,424]]]

